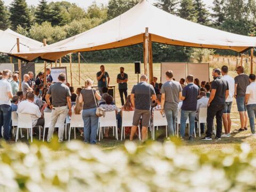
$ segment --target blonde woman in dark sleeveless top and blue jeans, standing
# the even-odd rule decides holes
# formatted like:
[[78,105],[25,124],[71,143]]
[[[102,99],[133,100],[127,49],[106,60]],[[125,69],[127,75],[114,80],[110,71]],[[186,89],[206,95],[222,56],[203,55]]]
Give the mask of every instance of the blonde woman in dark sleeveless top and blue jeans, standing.
[[82,89],[80,93],[79,102],[83,102],[84,142],[95,144],[98,127],[97,100],[101,97],[96,90],[92,89],[92,84],[91,79],[86,79],[85,89]]

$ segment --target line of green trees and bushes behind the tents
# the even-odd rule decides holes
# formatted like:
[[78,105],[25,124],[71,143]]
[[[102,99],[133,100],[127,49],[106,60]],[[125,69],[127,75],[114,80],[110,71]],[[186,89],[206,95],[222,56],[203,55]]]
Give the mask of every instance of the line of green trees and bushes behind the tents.
[[[92,3],[86,10],[65,1],[28,6],[26,0],[13,0],[9,6],[0,0],[0,29],[11,28],[17,33],[47,44],[77,35],[135,6],[139,0],[109,0],[107,5]],[[206,7],[202,0],[157,0],[160,9],[178,17],[205,26],[241,35],[256,35],[256,0],[214,0]],[[159,21],[161,22],[161,21]],[[201,62],[205,54],[235,55],[234,51],[207,50],[191,47],[153,43],[154,62],[188,61],[194,58]],[[86,62],[133,62],[143,60],[141,44],[112,50],[82,53]],[[6,59],[6,58],[0,58]],[[74,55],[74,62],[77,57]]]

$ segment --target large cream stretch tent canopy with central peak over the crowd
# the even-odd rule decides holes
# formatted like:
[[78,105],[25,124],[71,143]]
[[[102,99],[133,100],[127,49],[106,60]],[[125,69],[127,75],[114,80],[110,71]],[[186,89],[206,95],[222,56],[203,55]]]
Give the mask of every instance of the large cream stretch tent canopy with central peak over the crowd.
[[199,25],[167,13],[141,0],[129,11],[84,33],[45,47],[29,49],[10,55],[31,61],[37,57],[55,61],[75,52],[113,49],[143,42],[148,27],[151,41],[170,45],[243,52],[256,46],[256,37],[228,33]]

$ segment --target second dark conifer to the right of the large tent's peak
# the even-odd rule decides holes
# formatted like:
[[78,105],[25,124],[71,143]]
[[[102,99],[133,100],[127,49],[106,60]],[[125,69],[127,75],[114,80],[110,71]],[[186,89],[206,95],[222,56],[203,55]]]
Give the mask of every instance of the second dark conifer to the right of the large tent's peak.
[[196,12],[194,9],[193,0],[181,0],[178,15],[183,19],[196,22]]

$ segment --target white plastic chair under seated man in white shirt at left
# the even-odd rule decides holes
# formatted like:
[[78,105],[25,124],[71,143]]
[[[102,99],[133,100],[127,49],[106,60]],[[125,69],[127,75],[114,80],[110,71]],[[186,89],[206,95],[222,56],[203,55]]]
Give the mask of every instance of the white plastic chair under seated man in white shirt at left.
[[[30,129],[30,138],[31,138],[31,142],[33,142],[33,125],[32,125],[30,114],[21,114],[21,113],[18,114],[18,126],[17,126],[15,142],[17,142],[17,140],[19,139],[19,129],[22,129],[22,128],[27,129],[27,138],[29,137],[28,132]],[[40,134],[41,133],[39,133],[39,135]]]

